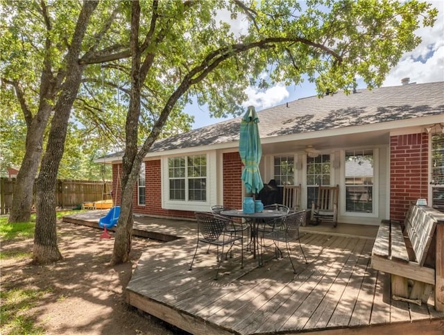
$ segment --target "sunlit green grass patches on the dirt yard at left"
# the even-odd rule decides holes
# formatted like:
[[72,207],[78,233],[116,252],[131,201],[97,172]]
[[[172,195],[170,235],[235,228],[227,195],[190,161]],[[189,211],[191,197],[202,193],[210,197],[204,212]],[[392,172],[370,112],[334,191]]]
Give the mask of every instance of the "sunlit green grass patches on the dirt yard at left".
[[[76,214],[83,211],[56,212],[57,219],[68,214]],[[0,238],[2,241],[22,241],[31,239],[35,230],[35,214],[31,214],[31,221],[8,223],[8,217],[0,218]],[[12,249],[2,250],[0,259],[24,259],[31,258],[32,252]],[[35,317],[28,310],[35,307],[42,296],[50,291],[35,289],[8,288],[8,283],[1,285],[0,307],[0,333],[9,335],[19,334],[45,334],[42,327],[35,326]],[[63,299],[64,297],[60,297]]]

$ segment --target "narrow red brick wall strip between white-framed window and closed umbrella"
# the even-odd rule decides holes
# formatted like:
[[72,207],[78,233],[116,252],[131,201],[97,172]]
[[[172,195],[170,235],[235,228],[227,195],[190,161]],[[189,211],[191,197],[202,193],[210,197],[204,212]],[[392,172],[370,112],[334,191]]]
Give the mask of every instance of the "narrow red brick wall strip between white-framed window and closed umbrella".
[[242,208],[242,162],[239,153],[223,154],[223,205]]

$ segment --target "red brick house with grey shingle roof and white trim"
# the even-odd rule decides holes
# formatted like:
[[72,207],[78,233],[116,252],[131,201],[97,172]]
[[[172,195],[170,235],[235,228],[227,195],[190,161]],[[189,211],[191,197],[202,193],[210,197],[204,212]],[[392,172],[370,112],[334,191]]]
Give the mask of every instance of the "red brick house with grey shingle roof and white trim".
[[[264,182],[275,179],[275,171],[279,170],[276,159],[290,157],[293,182],[302,184],[302,208],[309,209],[309,157],[305,148],[314,146],[320,157],[329,160],[330,184],[339,184],[339,222],[377,225],[383,218],[403,221],[412,201],[425,198],[432,202],[434,132],[426,130],[433,126],[435,132],[443,132],[443,92],[443,82],[372,91],[359,89],[349,96],[341,92],[323,98],[314,96],[259,111],[262,178]],[[210,205],[241,208],[244,187],[238,153],[239,124],[240,118],[231,119],[156,141],[145,160],[146,204],[138,205],[135,189],[134,213],[194,218],[196,210],[210,210]],[[345,162],[359,151],[372,154],[372,209],[367,212],[353,212],[345,205],[349,187]],[[117,179],[122,155],[115,153],[98,160],[113,164],[117,203],[120,203]],[[205,201],[170,201],[169,160],[194,155],[206,157]]]

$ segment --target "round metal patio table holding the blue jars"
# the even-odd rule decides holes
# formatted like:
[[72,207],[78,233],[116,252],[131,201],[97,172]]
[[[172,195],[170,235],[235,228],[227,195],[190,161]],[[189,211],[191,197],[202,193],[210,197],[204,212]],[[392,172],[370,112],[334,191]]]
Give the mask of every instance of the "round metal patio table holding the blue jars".
[[[264,209],[262,212],[255,213],[244,213],[242,209],[230,209],[227,211],[221,211],[219,214],[234,218],[245,218],[248,225],[251,228],[251,243],[253,243],[253,258],[257,255],[257,265],[262,266],[262,255],[259,254],[259,234],[257,232],[257,227],[260,223],[268,220],[273,220],[275,218],[280,218],[287,215],[285,212],[275,211],[271,209]],[[257,250],[257,252],[256,252]]]

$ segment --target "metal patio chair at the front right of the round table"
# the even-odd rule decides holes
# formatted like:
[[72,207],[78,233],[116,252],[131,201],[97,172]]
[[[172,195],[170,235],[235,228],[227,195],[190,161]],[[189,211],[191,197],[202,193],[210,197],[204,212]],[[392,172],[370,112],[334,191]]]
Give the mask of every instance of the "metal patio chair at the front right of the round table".
[[278,229],[273,230],[273,232],[268,232],[264,234],[264,239],[270,239],[275,245],[275,256],[278,258],[278,254],[282,257],[282,250],[279,248],[279,242],[284,242],[287,246],[287,252],[289,254],[289,259],[291,266],[293,267],[293,273],[296,273],[296,268],[294,267],[293,260],[291,259],[291,248],[290,242],[298,241],[300,250],[302,251],[302,256],[304,256],[305,264],[308,264],[307,257],[305,257],[304,250],[302,249],[302,244],[300,243],[299,227],[305,222],[307,214],[305,209],[288,214],[282,220],[282,225]]

